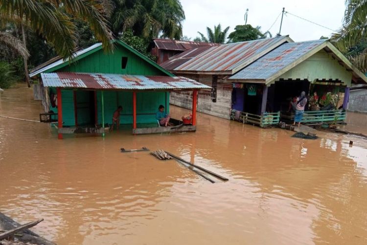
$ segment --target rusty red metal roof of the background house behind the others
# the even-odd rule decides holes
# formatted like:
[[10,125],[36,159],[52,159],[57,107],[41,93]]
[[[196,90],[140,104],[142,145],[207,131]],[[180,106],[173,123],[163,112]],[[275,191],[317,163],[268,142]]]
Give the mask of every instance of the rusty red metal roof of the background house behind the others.
[[220,44],[213,44],[213,43],[172,40],[172,39],[162,39],[162,38],[154,39],[153,42],[158,49],[181,50],[181,51],[185,51],[185,50],[193,49],[193,48],[199,48],[199,47],[214,47],[214,46],[220,45]]

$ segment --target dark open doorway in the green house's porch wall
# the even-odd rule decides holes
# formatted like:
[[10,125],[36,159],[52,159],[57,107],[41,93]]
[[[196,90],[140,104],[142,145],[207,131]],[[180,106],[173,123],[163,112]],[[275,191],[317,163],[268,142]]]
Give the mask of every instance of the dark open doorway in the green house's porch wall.
[[94,125],[95,124],[95,97],[94,91],[76,91],[74,96],[76,104],[75,124]]

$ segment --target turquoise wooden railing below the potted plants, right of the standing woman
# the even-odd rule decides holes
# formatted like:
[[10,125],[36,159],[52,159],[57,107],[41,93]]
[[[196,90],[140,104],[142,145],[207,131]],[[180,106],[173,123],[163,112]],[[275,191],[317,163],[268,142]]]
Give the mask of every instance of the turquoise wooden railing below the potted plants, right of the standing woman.
[[301,123],[343,123],[345,118],[343,110],[305,111]]

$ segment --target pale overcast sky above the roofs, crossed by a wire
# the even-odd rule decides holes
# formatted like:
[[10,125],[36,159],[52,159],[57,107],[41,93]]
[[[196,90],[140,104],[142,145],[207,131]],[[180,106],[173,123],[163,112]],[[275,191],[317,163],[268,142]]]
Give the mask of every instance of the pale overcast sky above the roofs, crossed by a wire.
[[[197,37],[197,31],[206,34],[206,26],[211,28],[219,23],[229,33],[236,25],[244,25],[244,14],[249,9],[248,24],[261,26],[263,32],[274,23],[285,7],[294,15],[337,30],[343,20],[344,0],[181,0],[186,20],[184,36]],[[279,16],[270,32],[275,36],[279,31]],[[331,30],[300,20],[290,14],[284,16],[281,34],[289,35],[294,41],[319,39],[330,36]]]

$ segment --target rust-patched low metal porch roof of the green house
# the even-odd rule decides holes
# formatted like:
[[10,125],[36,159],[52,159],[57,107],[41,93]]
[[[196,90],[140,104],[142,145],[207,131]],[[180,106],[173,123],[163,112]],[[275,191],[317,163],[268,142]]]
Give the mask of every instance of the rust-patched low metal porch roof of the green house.
[[209,86],[181,76],[143,76],[105,73],[41,73],[45,87],[111,90],[186,90]]

